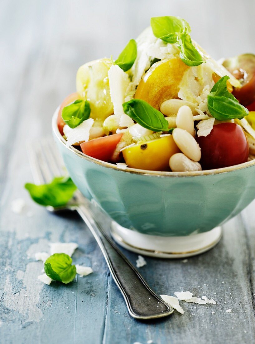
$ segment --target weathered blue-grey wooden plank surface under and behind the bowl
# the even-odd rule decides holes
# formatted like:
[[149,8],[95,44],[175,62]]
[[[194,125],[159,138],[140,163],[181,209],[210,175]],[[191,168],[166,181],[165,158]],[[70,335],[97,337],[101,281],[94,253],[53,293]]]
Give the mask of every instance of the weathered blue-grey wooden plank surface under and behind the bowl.
[[[75,89],[82,63],[117,56],[151,16],[167,14],[186,18],[194,39],[216,58],[254,52],[254,13],[253,0],[1,1],[0,343],[255,342],[255,203],[224,226],[210,252],[186,263],[146,258],[141,268],[160,294],[190,290],[217,305],[187,303],[185,315],[138,322],[81,219],[48,213],[23,189],[32,181],[25,142],[50,134],[51,115]],[[27,207],[20,215],[10,209],[18,197]],[[54,241],[77,242],[74,262],[94,273],[67,286],[42,284],[34,253]],[[135,263],[137,256],[125,253]]]

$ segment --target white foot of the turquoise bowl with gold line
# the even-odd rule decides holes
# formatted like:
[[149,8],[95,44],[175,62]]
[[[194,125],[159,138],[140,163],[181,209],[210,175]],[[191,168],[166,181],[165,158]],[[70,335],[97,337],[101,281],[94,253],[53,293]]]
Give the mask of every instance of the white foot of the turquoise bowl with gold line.
[[163,237],[135,232],[112,221],[111,235],[122,247],[144,256],[185,258],[213,248],[221,239],[222,229],[215,227],[199,234]]

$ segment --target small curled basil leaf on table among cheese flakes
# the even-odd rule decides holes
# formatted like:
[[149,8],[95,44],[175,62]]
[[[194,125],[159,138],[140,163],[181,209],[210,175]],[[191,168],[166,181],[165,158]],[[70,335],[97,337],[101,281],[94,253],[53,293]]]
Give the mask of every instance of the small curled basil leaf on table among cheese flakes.
[[65,253],[55,253],[44,263],[44,271],[54,281],[70,283],[76,276],[76,267],[72,258]]

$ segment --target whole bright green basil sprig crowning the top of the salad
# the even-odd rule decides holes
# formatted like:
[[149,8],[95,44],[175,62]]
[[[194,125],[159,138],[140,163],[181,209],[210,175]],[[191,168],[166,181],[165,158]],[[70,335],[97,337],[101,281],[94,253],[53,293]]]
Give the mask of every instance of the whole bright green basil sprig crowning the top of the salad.
[[150,25],[155,37],[171,44],[177,44],[180,58],[188,66],[199,66],[203,62],[202,56],[192,43],[189,33],[191,28],[186,20],[180,17],[154,17]]

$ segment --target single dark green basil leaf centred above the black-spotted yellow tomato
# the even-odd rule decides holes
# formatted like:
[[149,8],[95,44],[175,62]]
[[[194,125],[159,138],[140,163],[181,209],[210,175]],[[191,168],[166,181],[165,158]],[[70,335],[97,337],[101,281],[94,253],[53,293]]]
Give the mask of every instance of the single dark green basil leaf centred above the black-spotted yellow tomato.
[[123,110],[142,127],[153,131],[168,130],[164,115],[142,99],[131,99],[124,103]]

